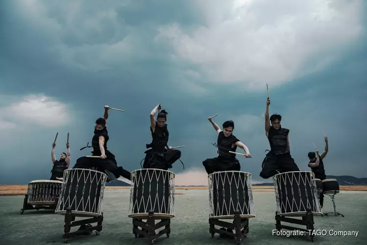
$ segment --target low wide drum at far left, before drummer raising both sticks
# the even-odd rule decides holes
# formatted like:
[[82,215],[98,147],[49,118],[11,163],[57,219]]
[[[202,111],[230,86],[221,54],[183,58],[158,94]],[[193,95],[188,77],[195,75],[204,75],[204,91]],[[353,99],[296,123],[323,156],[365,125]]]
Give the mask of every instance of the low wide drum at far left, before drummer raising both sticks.
[[27,203],[34,206],[56,205],[63,182],[58,180],[33,180],[28,183]]

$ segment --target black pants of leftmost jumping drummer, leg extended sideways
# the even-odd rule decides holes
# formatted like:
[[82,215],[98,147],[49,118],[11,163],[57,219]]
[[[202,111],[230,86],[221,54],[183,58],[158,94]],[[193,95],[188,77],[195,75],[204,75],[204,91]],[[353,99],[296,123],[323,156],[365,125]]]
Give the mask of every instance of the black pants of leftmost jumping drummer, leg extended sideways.
[[131,180],[131,173],[124,170],[122,167],[117,167],[117,163],[115,159],[109,159],[108,157],[105,159],[101,158],[89,158],[89,157],[80,157],[76,160],[76,163],[73,169],[90,169],[97,168],[98,171],[103,172],[103,170],[107,170],[115,174],[115,177],[118,178],[122,176]]

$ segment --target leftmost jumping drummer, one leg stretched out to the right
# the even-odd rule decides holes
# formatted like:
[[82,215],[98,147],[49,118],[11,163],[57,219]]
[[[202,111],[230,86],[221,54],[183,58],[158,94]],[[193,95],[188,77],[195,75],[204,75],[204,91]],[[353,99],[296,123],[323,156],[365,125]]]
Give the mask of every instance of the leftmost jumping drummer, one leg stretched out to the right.
[[124,170],[122,167],[117,167],[115,155],[107,149],[107,142],[110,139],[107,131],[109,106],[106,105],[104,109],[104,117],[98,118],[95,121],[94,136],[92,138],[92,156],[100,156],[100,158],[80,157],[76,160],[73,169],[96,168],[98,171],[107,174],[107,182],[119,176],[131,180],[131,173]]

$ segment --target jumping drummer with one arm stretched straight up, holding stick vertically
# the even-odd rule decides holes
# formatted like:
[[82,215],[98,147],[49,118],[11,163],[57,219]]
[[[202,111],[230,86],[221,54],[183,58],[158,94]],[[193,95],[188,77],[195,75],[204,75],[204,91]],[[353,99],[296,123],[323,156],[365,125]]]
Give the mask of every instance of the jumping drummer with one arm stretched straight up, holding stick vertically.
[[[265,134],[269,140],[271,150],[266,154],[262,163],[260,177],[268,179],[279,172],[299,171],[292,158],[289,146],[289,129],[281,127],[282,117],[273,114],[269,118],[270,99],[266,101]],[[270,122],[272,125],[270,125]]]

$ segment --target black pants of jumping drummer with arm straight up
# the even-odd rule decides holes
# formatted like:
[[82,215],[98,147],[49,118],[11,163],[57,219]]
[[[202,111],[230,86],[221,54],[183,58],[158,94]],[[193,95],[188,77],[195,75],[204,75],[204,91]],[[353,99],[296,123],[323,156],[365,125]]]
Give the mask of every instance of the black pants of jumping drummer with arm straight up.
[[299,171],[299,168],[290,153],[275,155],[273,152],[269,152],[262,162],[260,177],[263,179],[273,177],[278,173],[277,170],[281,170],[280,172],[292,172]]

